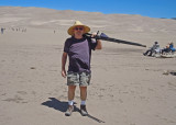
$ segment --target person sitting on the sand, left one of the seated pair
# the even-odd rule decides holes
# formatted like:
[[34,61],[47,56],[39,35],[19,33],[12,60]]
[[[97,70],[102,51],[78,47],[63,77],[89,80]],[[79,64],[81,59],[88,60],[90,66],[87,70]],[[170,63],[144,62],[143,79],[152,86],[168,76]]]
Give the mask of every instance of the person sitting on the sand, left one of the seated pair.
[[154,45],[150,49],[147,49],[145,53],[143,53],[143,55],[146,56],[150,53],[148,56],[152,56],[152,54],[156,53],[156,52],[160,52],[158,42],[155,42]]

